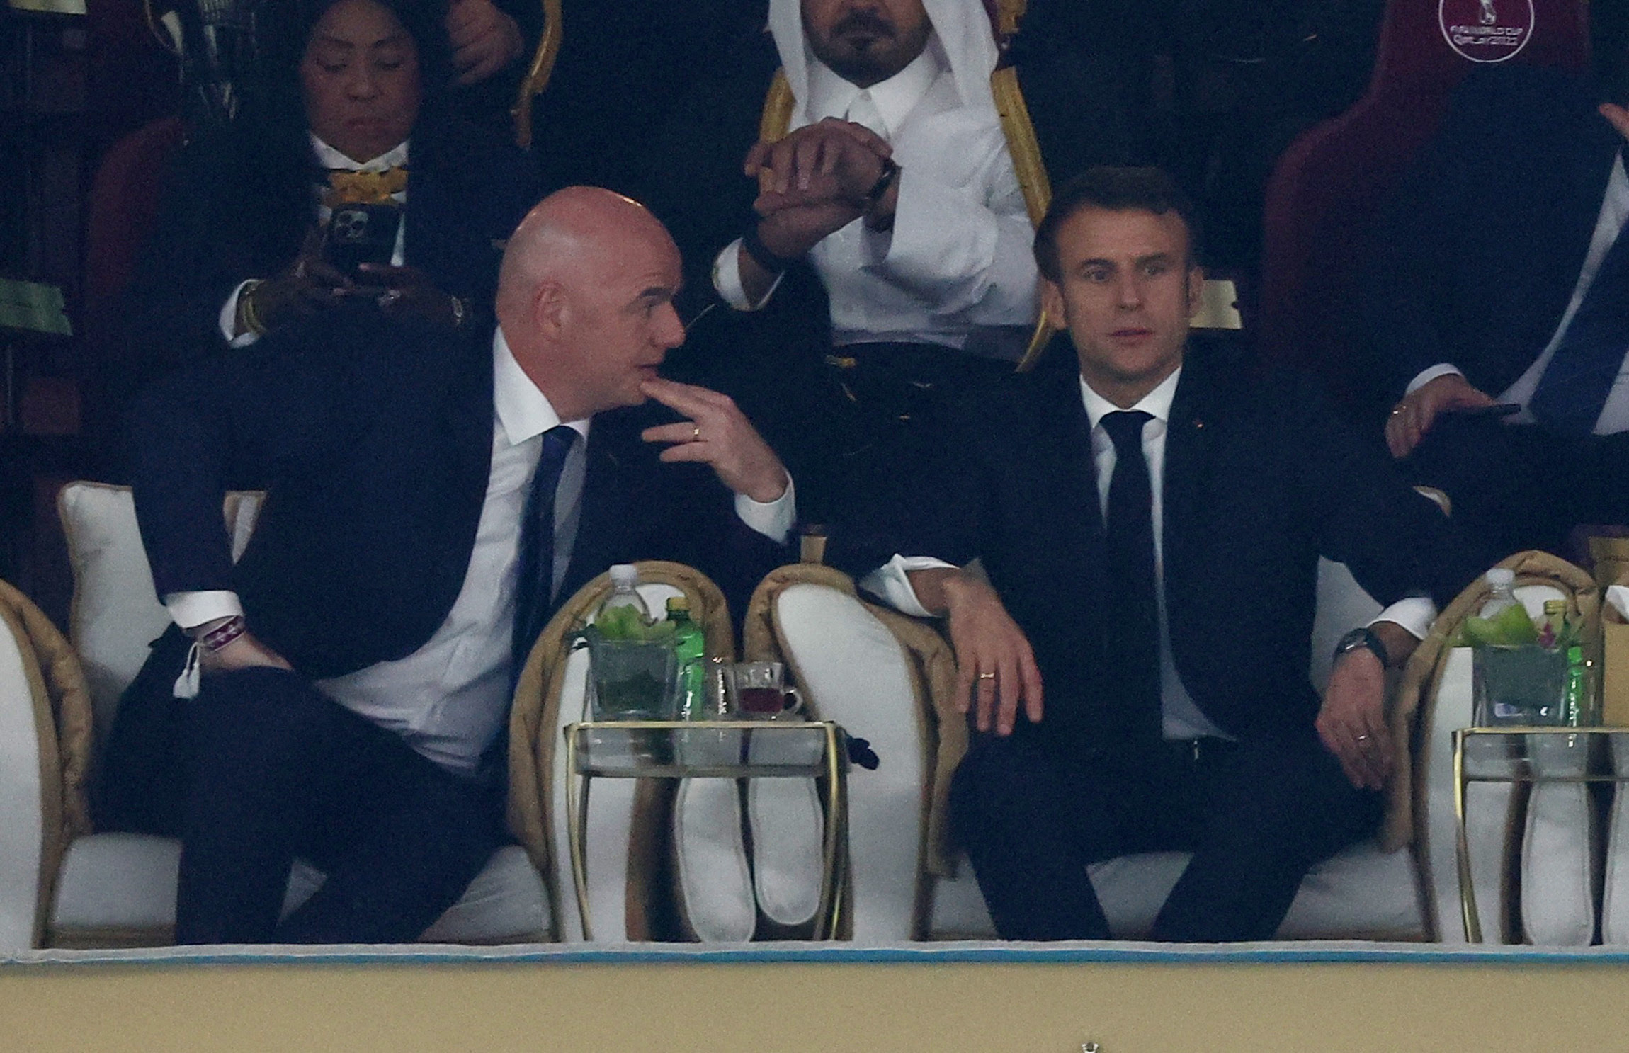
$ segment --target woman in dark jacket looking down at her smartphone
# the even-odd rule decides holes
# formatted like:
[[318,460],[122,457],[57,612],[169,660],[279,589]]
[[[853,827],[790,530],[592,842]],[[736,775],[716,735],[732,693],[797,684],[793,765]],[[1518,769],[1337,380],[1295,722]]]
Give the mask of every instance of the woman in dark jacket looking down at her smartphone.
[[261,81],[171,173],[129,293],[125,394],[332,311],[469,326],[539,197],[523,153],[453,114],[443,2],[267,10],[285,21]]

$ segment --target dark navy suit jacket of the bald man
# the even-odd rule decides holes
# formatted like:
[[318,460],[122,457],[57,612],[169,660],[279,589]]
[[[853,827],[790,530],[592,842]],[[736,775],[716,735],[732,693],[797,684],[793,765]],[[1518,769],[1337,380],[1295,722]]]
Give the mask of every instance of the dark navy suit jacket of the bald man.
[[[782,545],[735,516],[710,469],[640,441],[656,407],[595,417],[560,599],[611,563],[668,558],[736,610]],[[352,312],[272,334],[160,384],[137,415],[135,506],[158,594],[235,589],[252,631],[332,677],[419,649],[463,588],[492,452],[490,330],[448,339]],[[264,485],[236,566],[228,485]]]

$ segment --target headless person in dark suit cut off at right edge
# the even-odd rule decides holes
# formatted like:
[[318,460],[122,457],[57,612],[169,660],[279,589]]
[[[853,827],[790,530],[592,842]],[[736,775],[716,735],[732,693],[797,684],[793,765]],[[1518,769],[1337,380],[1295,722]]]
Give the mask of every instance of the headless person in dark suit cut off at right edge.
[[1629,522],[1629,63],[1603,50],[1592,81],[1469,75],[1365,273],[1386,443],[1489,563]]

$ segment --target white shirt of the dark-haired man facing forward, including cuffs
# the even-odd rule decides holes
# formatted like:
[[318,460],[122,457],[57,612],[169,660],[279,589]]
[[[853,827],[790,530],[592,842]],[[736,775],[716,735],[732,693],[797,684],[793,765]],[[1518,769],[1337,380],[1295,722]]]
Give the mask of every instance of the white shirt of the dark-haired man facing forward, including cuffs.
[[[1197,739],[1201,736],[1227,739],[1232,736],[1217,727],[1194,705],[1192,695],[1188,693],[1183,679],[1176,674],[1176,659],[1171,656],[1171,631],[1165,614],[1165,436],[1171,417],[1171,400],[1176,397],[1176,382],[1181,374],[1183,371],[1178,368],[1158,387],[1144,395],[1137,405],[1131,407],[1153,417],[1153,420],[1142,426],[1142,454],[1148,461],[1148,487],[1152,488],[1153,573],[1158,583],[1160,602],[1161,724],[1166,739]],[[1098,480],[1098,513],[1106,521],[1109,482],[1114,477],[1116,456],[1114,439],[1109,438],[1108,430],[1103,426],[1103,418],[1119,410],[1119,407],[1091,391],[1085,379],[1080,381],[1080,397],[1087,407],[1087,420],[1091,423],[1091,461]],[[867,575],[860,581],[860,586],[881,596],[904,614],[927,617],[929,612],[922,607],[906,575],[912,570],[927,570],[932,566],[950,566],[950,563],[927,557],[896,555],[881,568]],[[1435,617],[1437,605],[1430,599],[1406,597],[1381,610],[1375,622],[1394,622],[1416,640],[1422,640]]]

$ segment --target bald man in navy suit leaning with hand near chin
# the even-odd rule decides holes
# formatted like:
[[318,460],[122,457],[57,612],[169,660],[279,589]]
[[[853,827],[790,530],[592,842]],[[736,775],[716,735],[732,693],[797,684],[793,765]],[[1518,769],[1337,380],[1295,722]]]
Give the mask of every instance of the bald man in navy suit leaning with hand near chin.
[[[741,609],[784,561],[774,451],[656,376],[678,283],[643,207],[572,187],[512,236],[495,332],[345,314],[143,400],[137,516],[176,627],[121,703],[98,811],[182,838],[179,942],[417,937],[505,840],[489,747],[554,607],[670,558]],[[235,474],[269,483],[236,566]],[[279,921],[295,854],[327,880]]]

